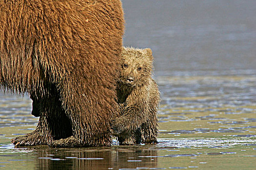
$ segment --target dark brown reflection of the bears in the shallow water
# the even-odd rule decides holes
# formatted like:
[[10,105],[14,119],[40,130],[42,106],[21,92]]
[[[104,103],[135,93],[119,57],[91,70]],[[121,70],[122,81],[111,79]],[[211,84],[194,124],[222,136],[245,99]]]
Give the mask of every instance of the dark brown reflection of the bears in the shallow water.
[[[0,150],[2,151],[3,147]],[[16,154],[4,155],[8,157],[8,161],[28,161],[18,149],[14,150]],[[24,151],[36,153],[30,159],[35,162],[37,170],[118,170],[158,167],[157,150],[150,147],[52,149],[41,146],[29,147]]]

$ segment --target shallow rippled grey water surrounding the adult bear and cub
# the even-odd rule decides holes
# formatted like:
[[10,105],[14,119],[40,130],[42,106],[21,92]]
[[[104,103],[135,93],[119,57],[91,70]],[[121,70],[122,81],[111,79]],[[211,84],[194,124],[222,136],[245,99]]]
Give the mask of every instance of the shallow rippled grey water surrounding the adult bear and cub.
[[256,2],[122,0],[125,46],[150,47],[162,101],[157,145],[15,149],[31,100],[0,92],[0,169],[256,168]]

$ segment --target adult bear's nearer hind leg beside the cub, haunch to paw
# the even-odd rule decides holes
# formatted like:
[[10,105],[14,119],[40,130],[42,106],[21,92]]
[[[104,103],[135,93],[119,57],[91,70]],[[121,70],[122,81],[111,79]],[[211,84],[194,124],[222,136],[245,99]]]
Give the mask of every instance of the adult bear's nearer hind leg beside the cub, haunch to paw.
[[118,111],[115,84],[122,48],[122,6],[120,0],[97,0],[88,7],[76,27],[80,31],[73,34],[76,48],[65,53],[68,71],[58,81],[73,136],[52,142],[55,147],[109,146],[112,141],[110,119]]

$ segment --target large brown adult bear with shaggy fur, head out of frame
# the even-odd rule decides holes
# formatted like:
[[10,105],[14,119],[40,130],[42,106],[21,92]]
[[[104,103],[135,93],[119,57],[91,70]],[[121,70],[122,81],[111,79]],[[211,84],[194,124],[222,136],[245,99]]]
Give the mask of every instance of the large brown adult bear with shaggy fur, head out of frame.
[[40,116],[12,143],[111,144],[123,23],[120,0],[0,0],[0,86]]

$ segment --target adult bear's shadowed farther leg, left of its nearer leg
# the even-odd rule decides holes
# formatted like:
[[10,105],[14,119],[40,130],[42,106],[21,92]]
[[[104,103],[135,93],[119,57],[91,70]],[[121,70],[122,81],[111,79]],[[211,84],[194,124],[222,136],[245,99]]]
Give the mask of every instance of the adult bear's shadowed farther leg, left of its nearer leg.
[[33,99],[34,112],[36,111],[36,114],[40,116],[39,123],[34,132],[12,139],[16,147],[47,145],[53,140],[72,135],[70,120],[61,108],[59,95],[56,95],[55,90],[51,90],[51,93],[43,98],[32,94],[31,99]]

